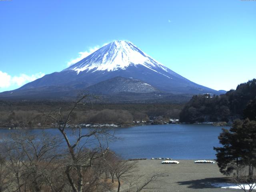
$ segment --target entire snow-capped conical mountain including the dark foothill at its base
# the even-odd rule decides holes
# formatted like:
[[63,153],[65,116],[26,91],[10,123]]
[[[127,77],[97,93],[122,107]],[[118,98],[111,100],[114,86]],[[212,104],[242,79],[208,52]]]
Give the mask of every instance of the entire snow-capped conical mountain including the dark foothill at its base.
[[225,93],[191,82],[131,42],[117,40],[60,72],[45,75],[16,90],[2,92],[0,98],[72,98],[82,90],[105,95],[123,92]]

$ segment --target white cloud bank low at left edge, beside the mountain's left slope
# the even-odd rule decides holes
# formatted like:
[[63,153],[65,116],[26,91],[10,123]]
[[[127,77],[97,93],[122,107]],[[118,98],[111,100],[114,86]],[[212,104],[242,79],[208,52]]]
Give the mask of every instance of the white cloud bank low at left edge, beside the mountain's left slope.
[[0,71],[0,88],[8,88],[10,86],[22,86],[43,76],[44,73],[39,72],[30,76],[26,74],[20,74],[20,76],[12,77],[8,73]]

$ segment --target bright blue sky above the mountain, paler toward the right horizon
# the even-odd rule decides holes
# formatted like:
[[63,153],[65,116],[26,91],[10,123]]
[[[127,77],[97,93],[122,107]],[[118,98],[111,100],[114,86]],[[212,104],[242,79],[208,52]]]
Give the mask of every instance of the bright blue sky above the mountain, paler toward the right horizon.
[[0,1],[0,92],[113,40],[189,80],[229,90],[256,78],[256,1]]

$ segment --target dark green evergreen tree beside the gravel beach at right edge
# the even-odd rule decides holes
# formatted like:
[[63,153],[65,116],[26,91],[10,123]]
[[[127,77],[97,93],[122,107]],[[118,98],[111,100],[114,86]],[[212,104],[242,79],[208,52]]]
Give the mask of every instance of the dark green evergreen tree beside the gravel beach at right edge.
[[223,147],[214,150],[220,172],[230,175],[235,171],[236,182],[255,182],[256,122],[235,120],[232,128],[222,129],[218,138]]

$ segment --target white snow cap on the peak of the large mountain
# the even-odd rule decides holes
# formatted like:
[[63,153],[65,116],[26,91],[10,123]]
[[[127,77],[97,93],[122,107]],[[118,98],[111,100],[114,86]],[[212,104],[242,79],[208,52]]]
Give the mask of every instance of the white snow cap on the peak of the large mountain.
[[150,56],[146,55],[131,42],[120,40],[103,46],[64,70],[75,70],[77,73],[85,70],[87,72],[95,72],[98,70],[115,71],[119,69],[126,70],[128,66],[136,65],[142,65],[155,72],[157,72],[157,68],[161,68],[166,72],[171,71],[164,65],[150,58]]

